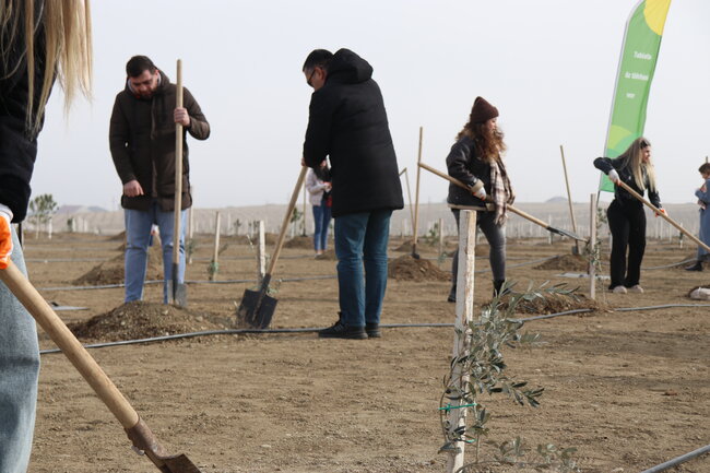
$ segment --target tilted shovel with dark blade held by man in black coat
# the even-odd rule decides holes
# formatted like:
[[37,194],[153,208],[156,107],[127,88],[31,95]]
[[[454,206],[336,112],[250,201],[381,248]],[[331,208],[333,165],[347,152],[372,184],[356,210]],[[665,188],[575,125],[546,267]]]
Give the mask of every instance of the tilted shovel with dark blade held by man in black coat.
[[281,253],[281,247],[283,246],[284,239],[286,237],[286,229],[288,228],[291,214],[294,212],[294,208],[296,206],[298,191],[304,185],[306,170],[308,170],[306,166],[300,167],[300,174],[298,175],[298,180],[296,181],[294,193],[291,196],[291,202],[288,202],[286,215],[284,215],[284,221],[281,224],[281,233],[279,234],[279,239],[276,240],[276,248],[274,249],[274,252],[271,257],[269,270],[261,280],[261,287],[259,291],[246,289],[244,292],[241,303],[239,303],[239,308],[237,308],[237,322],[245,322],[255,329],[265,329],[271,323],[271,318],[274,315],[276,303],[279,300],[268,295],[267,292],[269,291],[269,283],[271,282],[271,276],[273,275],[274,268],[276,267],[276,260]]

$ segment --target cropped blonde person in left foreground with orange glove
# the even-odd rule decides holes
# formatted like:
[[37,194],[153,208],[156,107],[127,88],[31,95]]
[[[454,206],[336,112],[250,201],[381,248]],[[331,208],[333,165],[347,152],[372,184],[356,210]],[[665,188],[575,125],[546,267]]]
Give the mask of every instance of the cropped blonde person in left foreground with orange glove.
[[[88,0],[0,0],[0,270],[25,271],[11,223],[22,222],[37,135],[57,79],[67,105],[91,88]],[[0,283],[0,473],[27,470],[37,401],[35,321]]]

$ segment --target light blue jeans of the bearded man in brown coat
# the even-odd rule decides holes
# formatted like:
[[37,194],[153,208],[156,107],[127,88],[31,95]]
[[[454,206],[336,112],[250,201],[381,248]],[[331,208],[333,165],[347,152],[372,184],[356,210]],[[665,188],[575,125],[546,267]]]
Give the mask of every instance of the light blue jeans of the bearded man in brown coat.
[[[185,216],[180,212],[180,261],[178,263],[178,283],[185,282]],[[163,303],[168,301],[168,281],[173,279],[173,228],[175,215],[173,211],[163,212],[157,202],[145,211],[125,209],[126,218],[126,301],[143,298],[143,284],[147,271],[147,247],[151,240],[153,224],[161,229],[163,244]]]

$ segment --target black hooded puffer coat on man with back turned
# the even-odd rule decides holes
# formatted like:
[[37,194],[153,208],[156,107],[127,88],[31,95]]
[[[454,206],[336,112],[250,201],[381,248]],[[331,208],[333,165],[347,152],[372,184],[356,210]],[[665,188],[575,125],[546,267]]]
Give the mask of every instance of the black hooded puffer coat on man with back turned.
[[310,98],[304,158],[318,167],[330,157],[334,217],[404,206],[382,94],[371,76],[367,61],[340,49]]

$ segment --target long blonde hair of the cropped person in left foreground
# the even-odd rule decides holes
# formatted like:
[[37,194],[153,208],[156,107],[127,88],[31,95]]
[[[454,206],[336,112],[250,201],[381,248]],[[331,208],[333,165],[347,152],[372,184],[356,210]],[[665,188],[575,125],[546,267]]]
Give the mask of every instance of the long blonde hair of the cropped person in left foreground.
[[[0,29],[3,45],[0,59],[8,75],[16,72],[23,59],[27,68],[27,129],[34,133],[39,130],[45,106],[55,76],[64,91],[64,109],[80,90],[91,96],[92,86],[92,34],[90,0],[44,0],[37,2],[40,11],[35,11],[35,0],[0,0]],[[45,48],[39,56],[44,71],[36,71],[35,39],[40,26],[44,27]],[[24,36],[21,40],[19,36]],[[24,55],[13,57],[13,46],[24,43]],[[23,57],[24,56],[24,57]],[[15,60],[16,63],[9,63]],[[37,72],[42,84],[35,84]],[[35,90],[39,96],[35,103]]]

